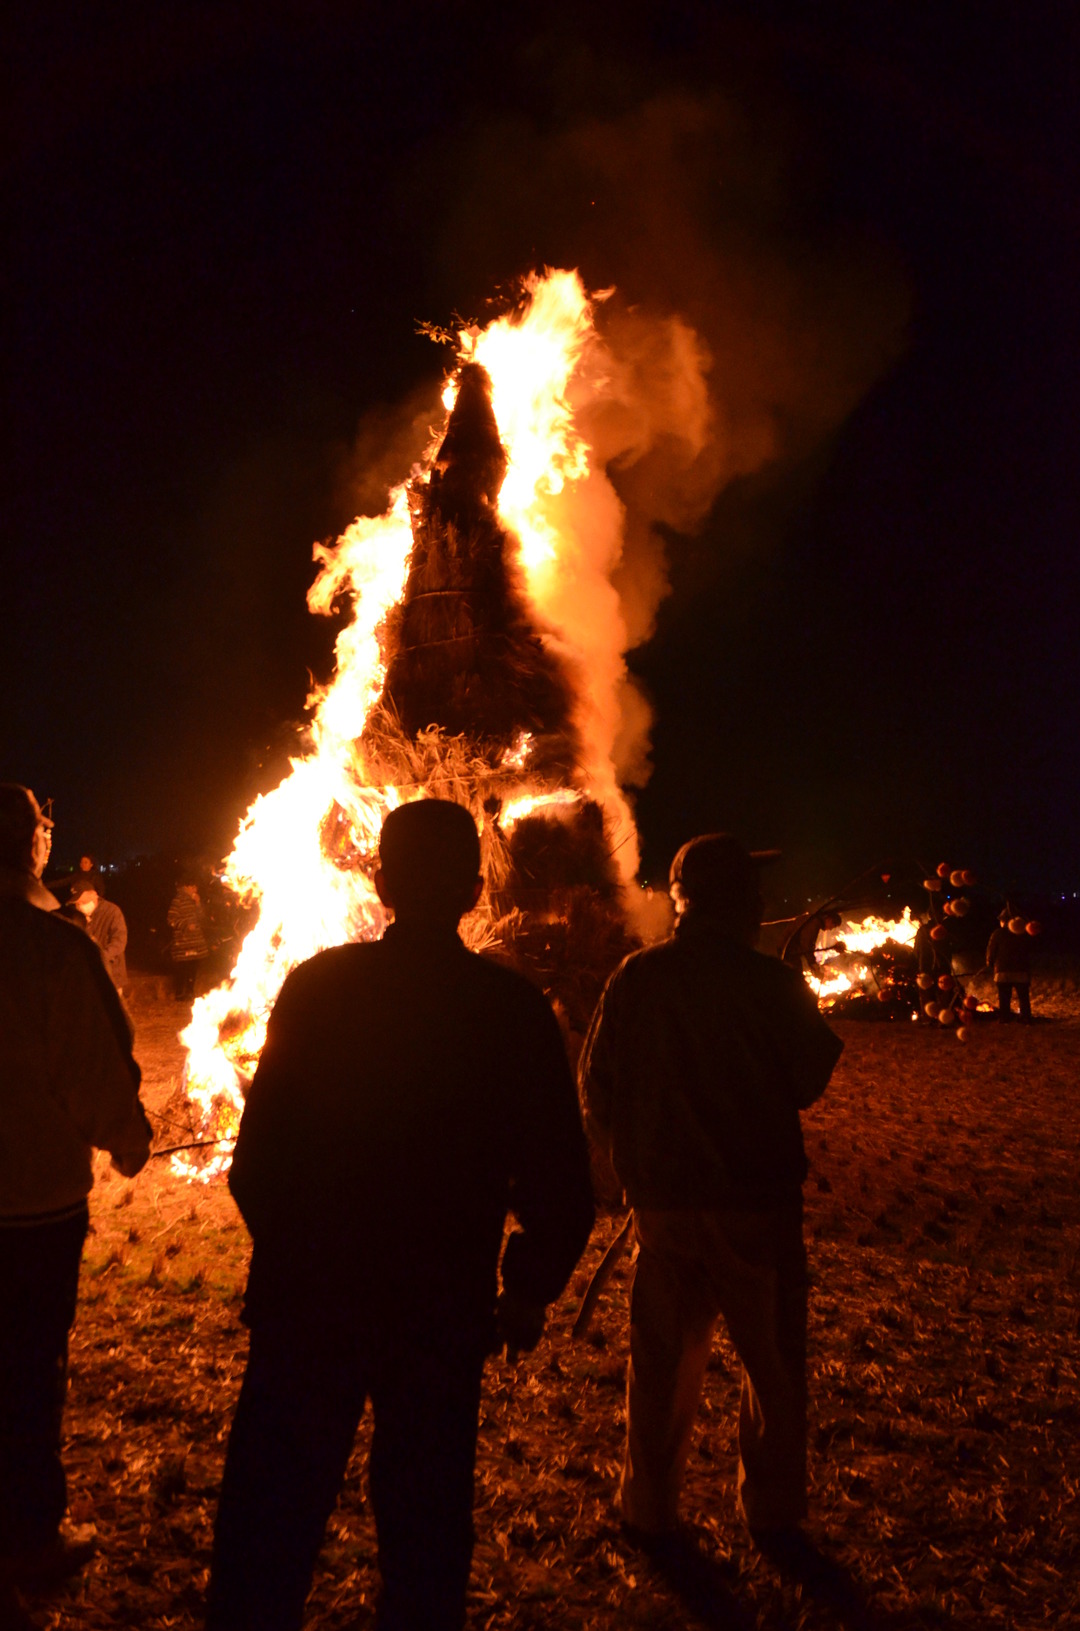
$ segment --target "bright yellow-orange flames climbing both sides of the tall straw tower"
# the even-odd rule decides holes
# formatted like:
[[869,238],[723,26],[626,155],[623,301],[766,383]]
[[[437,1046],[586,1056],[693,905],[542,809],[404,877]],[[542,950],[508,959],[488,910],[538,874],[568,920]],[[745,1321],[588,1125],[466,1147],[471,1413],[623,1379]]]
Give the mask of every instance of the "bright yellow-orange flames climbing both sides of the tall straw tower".
[[[289,970],[325,946],[382,931],[372,871],[387,811],[426,794],[460,796],[462,778],[471,776],[473,807],[498,811],[494,822],[480,817],[485,866],[496,879],[506,866],[499,843],[524,816],[592,801],[623,882],[636,874],[636,830],[613,767],[626,630],[610,574],[623,511],[579,427],[581,409],[604,400],[612,369],[578,274],[532,277],[522,310],[458,336],[460,364],[480,364],[489,377],[506,453],[498,517],[512,535],[538,638],[573,675],[576,754],[573,775],[564,771],[573,785],[553,785],[550,770],[530,773],[537,755],[529,731],[486,767],[467,760],[460,737],[421,732],[405,773],[392,778],[370,747],[390,661],[388,618],[403,600],[414,550],[409,494],[431,481],[457,400],[455,375],[444,391],[447,422],[411,481],[390,494],[387,512],[354,520],[334,545],[315,550],[310,610],[330,613],[347,597],[352,615],[336,641],[333,680],[308,700],[307,752],[290,762],[281,786],[255,801],[225,864],[225,881],[258,905],[258,920],[230,977],[196,1001],[183,1032],[188,1098],[204,1135],[224,1148],[202,1166],[173,1156],[186,1176],[207,1179],[228,1165],[227,1143]],[[401,758],[401,745],[393,745]]]

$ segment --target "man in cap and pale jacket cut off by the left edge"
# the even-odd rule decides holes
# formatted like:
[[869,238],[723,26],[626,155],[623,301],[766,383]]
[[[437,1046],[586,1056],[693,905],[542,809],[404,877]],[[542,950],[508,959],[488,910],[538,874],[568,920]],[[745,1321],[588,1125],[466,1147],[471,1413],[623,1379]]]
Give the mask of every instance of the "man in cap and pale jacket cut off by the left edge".
[[0,1603],[73,1572],[62,1528],[67,1337],[88,1228],[91,1155],[126,1178],[150,1153],[131,1031],[101,954],[41,884],[52,822],[0,785]]

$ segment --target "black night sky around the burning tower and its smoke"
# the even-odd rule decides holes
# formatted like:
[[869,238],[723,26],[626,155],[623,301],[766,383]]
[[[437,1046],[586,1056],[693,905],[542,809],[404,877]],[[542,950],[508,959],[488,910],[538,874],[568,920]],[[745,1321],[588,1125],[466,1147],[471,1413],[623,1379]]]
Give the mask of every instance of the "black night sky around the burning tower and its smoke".
[[842,426],[671,541],[633,657],[648,866],[731,827],[806,892],[889,851],[1080,889],[1069,26],[853,0],[29,8],[0,768],[55,799],[59,855],[220,855],[277,778],[333,639],[312,541],[357,507],[357,435],[392,460],[437,377],[418,318],[568,259],[680,308],[633,170],[592,202],[551,158],[675,96],[734,111],[692,158],[700,240],[796,277],[850,243],[902,341]]

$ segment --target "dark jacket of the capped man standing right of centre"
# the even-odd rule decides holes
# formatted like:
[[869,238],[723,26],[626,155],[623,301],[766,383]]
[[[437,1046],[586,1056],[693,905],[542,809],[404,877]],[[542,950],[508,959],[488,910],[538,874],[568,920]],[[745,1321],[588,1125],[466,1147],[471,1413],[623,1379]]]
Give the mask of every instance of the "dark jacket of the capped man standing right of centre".
[[842,1042],[795,969],[690,910],[609,980],[581,1057],[589,1132],[635,1207],[773,1207]]

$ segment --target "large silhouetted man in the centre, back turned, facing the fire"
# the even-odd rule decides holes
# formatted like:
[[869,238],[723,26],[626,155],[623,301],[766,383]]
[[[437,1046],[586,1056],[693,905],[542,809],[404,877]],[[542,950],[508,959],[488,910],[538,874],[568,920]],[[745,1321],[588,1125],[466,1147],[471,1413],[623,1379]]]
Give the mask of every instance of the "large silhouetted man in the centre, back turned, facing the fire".
[[[378,853],[395,920],[382,939],[289,975],[237,1140],[251,1352],[214,1536],[212,1631],[300,1626],[367,1399],[377,1624],[463,1624],[485,1355],[496,1336],[535,1346],[592,1227],[551,1008],[457,935],[480,895],[471,817],[439,799],[406,804]],[[520,1230],[496,1300],[507,1209]]]

